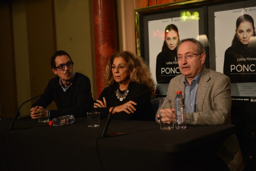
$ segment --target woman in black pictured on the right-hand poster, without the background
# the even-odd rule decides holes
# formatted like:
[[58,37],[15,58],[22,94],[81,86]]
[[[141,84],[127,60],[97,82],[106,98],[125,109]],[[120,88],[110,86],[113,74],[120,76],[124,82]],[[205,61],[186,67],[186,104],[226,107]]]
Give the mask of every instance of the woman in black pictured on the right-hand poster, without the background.
[[[236,33],[231,46],[225,51],[223,73],[232,83],[256,82],[256,48],[249,46],[255,36],[253,18],[248,14],[236,20]],[[254,61],[254,62],[253,62]]]

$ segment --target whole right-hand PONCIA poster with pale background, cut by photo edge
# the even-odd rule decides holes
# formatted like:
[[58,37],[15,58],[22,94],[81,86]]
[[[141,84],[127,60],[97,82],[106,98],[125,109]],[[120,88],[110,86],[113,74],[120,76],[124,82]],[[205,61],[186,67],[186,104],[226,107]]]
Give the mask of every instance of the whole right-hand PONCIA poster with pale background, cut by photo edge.
[[254,19],[256,7],[215,12],[216,71],[229,76],[231,96],[256,97]]

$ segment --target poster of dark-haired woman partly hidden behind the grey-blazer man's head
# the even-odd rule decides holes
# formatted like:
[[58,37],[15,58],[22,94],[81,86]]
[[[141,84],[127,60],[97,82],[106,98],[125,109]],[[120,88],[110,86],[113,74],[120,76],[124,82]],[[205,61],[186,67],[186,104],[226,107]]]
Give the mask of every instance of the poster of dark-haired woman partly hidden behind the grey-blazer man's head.
[[[148,21],[149,67],[156,88],[166,94],[170,80],[180,74],[177,44],[185,38],[198,39],[198,16],[183,20],[182,17]],[[163,87],[163,88],[161,88]]]

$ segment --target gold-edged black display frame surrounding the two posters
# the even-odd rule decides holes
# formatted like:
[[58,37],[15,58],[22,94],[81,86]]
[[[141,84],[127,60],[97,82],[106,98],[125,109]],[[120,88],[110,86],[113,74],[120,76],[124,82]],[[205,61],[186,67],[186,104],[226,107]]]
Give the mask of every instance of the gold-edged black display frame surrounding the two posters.
[[[145,22],[146,17],[152,17],[148,21],[153,20],[161,20],[165,18],[161,18],[159,16],[166,15],[167,13],[174,14],[169,15],[167,18],[175,18],[178,17],[177,13],[181,14],[182,11],[189,11],[193,9],[201,8],[201,14],[199,22],[199,27],[202,30],[199,30],[199,35],[205,34],[207,35],[209,41],[209,47],[206,47],[206,68],[210,68],[212,70],[216,70],[216,49],[215,49],[215,12],[234,10],[240,8],[249,8],[255,7],[255,0],[186,0],[179,1],[174,3],[167,3],[162,5],[137,8],[134,10],[135,12],[135,41],[136,41],[136,54],[142,56],[145,61],[149,64],[149,40],[146,42],[146,38],[148,39],[148,23]],[[175,14],[176,12],[176,14]],[[188,13],[189,14],[189,13]],[[159,18],[157,18],[159,17]],[[179,15],[181,17],[181,15]],[[199,20],[199,21],[200,21]],[[193,29],[193,28],[189,28]],[[147,32],[147,35],[145,34]],[[235,97],[235,96],[234,96]],[[238,96],[240,97],[240,96]],[[247,97],[248,98],[248,97]],[[252,97],[255,100],[255,97]],[[233,102],[233,100],[232,100]],[[255,102],[254,102],[255,103]]]

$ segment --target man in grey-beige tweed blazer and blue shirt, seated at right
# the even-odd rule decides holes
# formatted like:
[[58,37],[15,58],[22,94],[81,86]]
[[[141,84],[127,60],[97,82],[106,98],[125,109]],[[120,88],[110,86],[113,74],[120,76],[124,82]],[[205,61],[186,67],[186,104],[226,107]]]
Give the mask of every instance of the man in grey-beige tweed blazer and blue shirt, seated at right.
[[[175,118],[176,91],[185,97],[186,123],[192,125],[231,124],[230,79],[222,73],[204,68],[205,49],[192,38],[180,41],[177,61],[181,75],[171,79],[167,96],[158,109],[163,122]],[[159,122],[159,120],[157,119]],[[223,150],[224,149],[224,150]],[[217,151],[218,156],[233,170],[243,169],[242,154],[235,134],[228,137]]]

